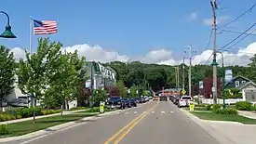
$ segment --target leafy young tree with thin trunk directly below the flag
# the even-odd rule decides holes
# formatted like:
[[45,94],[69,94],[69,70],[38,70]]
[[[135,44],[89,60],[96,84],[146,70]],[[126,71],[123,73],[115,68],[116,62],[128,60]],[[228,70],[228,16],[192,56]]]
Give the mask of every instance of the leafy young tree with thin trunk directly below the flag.
[[[61,47],[58,43],[49,43],[48,39],[39,39],[37,52],[30,55],[26,51],[26,60],[20,59],[20,65],[17,71],[19,77],[19,87],[23,94],[27,94],[33,100],[35,107],[36,99],[40,99],[47,89],[46,72],[47,66],[45,59],[55,50],[55,47]],[[35,123],[35,111],[34,123]]]

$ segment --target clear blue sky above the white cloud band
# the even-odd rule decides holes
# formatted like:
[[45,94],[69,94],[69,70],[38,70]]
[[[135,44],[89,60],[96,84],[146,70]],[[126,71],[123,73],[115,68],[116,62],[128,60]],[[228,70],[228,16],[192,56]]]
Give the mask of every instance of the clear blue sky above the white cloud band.
[[[254,3],[255,0],[222,0],[218,10],[220,25],[234,19]],[[128,56],[165,48],[174,53],[175,59],[181,59],[184,46],[192,44],[198,53],[205,50],[211,30],[211,26],[204,23],[211,17],[209,0],[1,0],[0,6],[9,14],[13,33],[18,36],[12,40],[1,39],[1,45],[9,48],[29,46],[30,16],[35,20],[58,20],[59,33],[49,37],[60,41],[63,46],[99,45]],[[190,19],[193,13],[194,20]],[[255,22],[255,14],[256,9],[253,9],[225,29],[242,32]],[[0,30],[5,25],[6,18],[2,15]],[[236,35],[218,34],[218,46],[223,46]],[[34,51],[37,37],[33,37]],[[249,46],[255,38],[249,36],[233,51],[237,47]]]

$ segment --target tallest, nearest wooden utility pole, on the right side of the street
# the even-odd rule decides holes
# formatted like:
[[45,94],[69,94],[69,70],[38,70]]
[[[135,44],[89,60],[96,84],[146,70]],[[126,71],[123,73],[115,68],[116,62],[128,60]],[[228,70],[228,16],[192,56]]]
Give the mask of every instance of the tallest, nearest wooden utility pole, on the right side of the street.
[[217,103],[217,95],[218,95],[218,90],[217,90],[217,65],[218,63],[216,62],[216,30],[217,30],[217,26],[216,26],[216,9],[218,9],[217,7],[217,3],[216,0],[211,0],[210,5],[212,7],[212,12],[213,12],[213,61],[211,63],[211,65],[213,66],[213,103],[216,104]]

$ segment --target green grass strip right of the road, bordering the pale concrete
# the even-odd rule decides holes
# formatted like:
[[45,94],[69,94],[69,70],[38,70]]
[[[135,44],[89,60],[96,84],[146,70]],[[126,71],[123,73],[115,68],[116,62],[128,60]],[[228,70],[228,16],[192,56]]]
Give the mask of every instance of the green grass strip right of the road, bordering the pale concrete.
[[204,112],[204,111],[191,111],[195,116],[203,120],[211,121],[230,121],[238,122],[242,124],[256,124],[255,119],[249,119],[241,115],[232,115],[232,114],[215,114],[213,112]]

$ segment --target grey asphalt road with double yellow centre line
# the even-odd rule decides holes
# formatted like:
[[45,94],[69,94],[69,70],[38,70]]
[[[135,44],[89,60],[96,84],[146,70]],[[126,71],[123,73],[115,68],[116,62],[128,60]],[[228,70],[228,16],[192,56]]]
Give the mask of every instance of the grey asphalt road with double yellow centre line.
[[218,144],[170,101],[151,101],[86,124],[7,144]]

